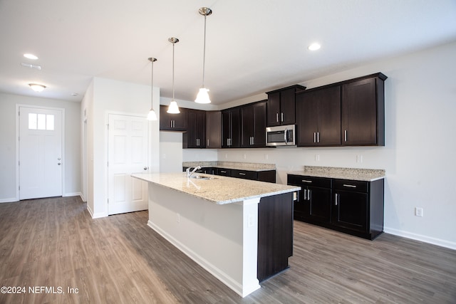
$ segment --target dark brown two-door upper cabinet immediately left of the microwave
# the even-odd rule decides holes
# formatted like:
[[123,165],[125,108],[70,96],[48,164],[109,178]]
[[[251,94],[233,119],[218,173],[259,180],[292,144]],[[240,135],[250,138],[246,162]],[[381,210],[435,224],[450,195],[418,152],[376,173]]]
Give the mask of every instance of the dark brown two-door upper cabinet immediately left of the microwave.
[[266,100],[240,109],[241,147],[266,147]]

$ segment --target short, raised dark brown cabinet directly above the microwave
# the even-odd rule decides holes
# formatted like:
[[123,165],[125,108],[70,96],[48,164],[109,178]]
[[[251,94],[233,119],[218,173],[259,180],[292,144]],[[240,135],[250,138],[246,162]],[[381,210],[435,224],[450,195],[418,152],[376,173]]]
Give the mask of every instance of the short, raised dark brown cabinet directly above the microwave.
[[302,85],[291,85],[287,88],[266,92],[268,127],[275,125],[294,125],[295,118],[295,93],[305,90]]

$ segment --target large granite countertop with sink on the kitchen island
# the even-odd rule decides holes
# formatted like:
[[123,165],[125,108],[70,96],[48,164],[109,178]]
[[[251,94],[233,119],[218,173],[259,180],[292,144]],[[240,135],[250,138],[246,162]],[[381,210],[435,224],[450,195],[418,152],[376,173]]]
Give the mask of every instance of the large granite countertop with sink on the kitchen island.
[[[198,174],[197,174],[198,175]],[[213,179],[191,179],[184,173],[137,173],[132,177],[197,196],[214,204],[231,204],[246,199],[273,196],[301,189],[296,186],[257,182],[249,179],[199,174]]]

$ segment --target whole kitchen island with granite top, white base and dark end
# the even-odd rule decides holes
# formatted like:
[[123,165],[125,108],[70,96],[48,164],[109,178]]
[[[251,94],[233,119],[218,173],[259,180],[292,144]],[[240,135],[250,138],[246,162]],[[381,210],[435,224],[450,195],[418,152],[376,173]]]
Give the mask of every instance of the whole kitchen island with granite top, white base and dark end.
[[147,225],[242,297],[288,268],[299,187],[209,174],[132,176],[149,184]]

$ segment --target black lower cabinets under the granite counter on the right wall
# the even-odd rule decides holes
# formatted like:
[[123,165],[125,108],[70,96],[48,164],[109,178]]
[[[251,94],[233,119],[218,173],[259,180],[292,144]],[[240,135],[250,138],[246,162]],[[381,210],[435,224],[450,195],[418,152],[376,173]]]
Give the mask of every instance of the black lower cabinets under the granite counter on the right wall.
[[294,219],[375,239],[383,232],[384,179],[372,182],[288,174],[301,187]]

